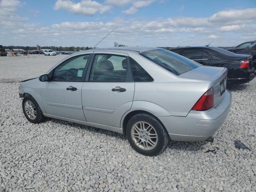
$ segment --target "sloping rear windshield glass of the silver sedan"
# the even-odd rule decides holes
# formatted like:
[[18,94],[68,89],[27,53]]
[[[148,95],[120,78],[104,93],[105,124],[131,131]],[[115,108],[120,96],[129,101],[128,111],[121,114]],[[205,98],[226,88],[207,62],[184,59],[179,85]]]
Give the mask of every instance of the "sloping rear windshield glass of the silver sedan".
[[165,49],[149,50],[140,54],[176,75],[181,75],[201,66],[188,58]]

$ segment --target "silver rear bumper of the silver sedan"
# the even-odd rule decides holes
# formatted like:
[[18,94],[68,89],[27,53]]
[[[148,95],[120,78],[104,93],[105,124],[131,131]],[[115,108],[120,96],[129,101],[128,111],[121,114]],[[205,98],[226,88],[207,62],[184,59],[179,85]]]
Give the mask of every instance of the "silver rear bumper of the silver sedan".
[[223,124],[231,107],[232,96],[226,90],[224,99],[216,107],[207,111],[191,110],[186,117],[158,117],[164,124],[171,140],[205,141]]

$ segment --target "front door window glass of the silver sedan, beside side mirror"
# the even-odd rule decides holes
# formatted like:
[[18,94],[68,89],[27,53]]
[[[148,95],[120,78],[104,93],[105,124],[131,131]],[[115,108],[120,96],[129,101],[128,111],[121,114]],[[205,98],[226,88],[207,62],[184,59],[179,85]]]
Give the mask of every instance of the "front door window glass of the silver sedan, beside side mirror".
[[70,58],[55,68],[52,75],[54,81],[82,81],[84,68],[88,63],[89,54]]

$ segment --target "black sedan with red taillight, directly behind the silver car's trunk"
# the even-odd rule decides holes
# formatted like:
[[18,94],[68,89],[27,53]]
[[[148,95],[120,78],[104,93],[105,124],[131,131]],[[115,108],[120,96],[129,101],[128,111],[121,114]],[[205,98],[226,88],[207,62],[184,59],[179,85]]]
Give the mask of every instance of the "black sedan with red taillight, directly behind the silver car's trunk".
[[251,55],[235,54],[208,46],[180,47],[171,51],[202,65],[228,68],[228,83],[247,83],[255,77]]

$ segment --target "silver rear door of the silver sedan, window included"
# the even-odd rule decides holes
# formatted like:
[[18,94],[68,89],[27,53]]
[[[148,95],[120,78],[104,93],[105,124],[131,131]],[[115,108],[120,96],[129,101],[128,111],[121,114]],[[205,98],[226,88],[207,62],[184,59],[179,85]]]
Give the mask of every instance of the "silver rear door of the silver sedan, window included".
[[86,120],[119,128],[132,107],[134,86],[128,54],[95,51],[82,88]]

